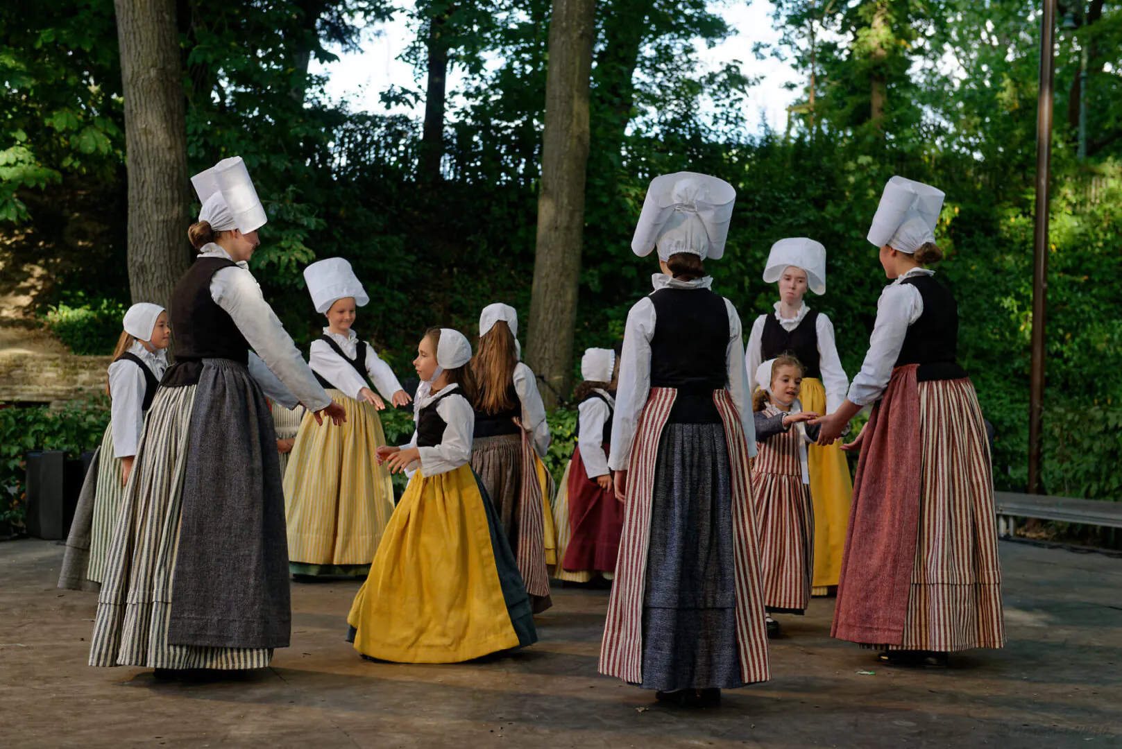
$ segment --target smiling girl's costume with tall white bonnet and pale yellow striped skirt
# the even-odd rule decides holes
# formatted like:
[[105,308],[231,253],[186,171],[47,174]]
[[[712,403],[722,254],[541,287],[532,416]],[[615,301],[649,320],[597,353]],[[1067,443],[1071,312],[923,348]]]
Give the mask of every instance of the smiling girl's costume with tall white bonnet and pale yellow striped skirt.
[[[316,312],[327,312],[344,297],[353,297],[357,306],[369,302],[342,258],[313,262],[304,277]],[[344,336],[324,327],[323,335],[312,341],[309,366],[346,409],[347,420],[318,424],[306,415],[300,426],[284,483],[288,567],[300,575],[360,577],[369,571],[394,511],[394,486],[375,459],[386,444],[381,419],[373,404],[359,400],[359,391],[373,381],[388,403],[402,386],[389,364],[353,330]]]

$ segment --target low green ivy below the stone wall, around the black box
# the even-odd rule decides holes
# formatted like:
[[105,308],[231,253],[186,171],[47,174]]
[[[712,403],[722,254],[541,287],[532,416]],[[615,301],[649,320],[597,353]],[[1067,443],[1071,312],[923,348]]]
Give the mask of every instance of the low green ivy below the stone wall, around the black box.
[[63,450],[77,457],[95,449],[109,425],[109,399],[98,396],[66,404],[61,410],[46,406],[0,408],[0,536],[24,526],[25,456],[39,450]]

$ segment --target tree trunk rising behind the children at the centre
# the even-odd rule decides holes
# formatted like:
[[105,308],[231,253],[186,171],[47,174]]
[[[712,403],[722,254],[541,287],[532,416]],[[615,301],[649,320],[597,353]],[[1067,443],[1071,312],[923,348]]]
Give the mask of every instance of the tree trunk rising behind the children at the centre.
[[585,232],[588,96],[596,37],[594,0],[553,0],[537,250],[526,360],[544,381],[546,407],[569,394]]

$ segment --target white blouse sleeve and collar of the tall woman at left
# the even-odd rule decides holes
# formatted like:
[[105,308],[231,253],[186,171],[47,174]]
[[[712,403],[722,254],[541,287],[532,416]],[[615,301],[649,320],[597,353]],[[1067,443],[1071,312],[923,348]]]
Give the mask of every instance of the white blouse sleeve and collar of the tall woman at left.
[[[204,244],[200,256],[233,259],[213,242]],[[245,260],[233,268],[220,268],[211,277],[210,293],[214,303],[230,315],[254,352],[285,385],[287,391],[312,410],[321,410],[331,405],[331,398],[300,355],[273,307],[265,300],[261,287],[249,272],[249,265]],[[263,390],[277,403],[286,400],[285,394],[269,394],[264,387]]]

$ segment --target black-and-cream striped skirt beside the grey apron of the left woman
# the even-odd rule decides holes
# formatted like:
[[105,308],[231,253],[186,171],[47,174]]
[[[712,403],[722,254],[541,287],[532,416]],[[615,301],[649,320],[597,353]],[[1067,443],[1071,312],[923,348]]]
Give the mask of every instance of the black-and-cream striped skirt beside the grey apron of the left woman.
[[91,666],[264,668],[273,656],[167,641],[195,388],[160,388],[148,412],[109,546]]

